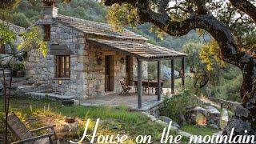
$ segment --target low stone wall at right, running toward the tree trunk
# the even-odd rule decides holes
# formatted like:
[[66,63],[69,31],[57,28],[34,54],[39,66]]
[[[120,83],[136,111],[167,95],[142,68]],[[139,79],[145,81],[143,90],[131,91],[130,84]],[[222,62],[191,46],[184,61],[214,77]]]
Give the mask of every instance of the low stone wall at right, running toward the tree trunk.
[[236,108],[240,105],[239,102],[231,102],[231,101],[226,101],[224,99],[220,99],[220,98],[212,98],[209,97],[209,99],[212,102],[216,102],[216,103],[223,103],[223,107],[225,107],[228,110],[231,110],[234,112],[234,110],[236,110]]

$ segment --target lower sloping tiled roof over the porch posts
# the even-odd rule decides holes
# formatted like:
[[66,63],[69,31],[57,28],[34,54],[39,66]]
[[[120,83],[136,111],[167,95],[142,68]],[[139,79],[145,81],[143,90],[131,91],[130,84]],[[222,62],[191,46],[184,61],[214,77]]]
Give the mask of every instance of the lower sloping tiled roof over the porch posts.
[[178,57],[182,58],[186,56],[184,53],[161,46],[155,46],[146,42],[116,41],[98,38],[87,38],[87,42],[98,46],[104,46],[107,49],[131,55],[145,61],[156,61],[160,59]]

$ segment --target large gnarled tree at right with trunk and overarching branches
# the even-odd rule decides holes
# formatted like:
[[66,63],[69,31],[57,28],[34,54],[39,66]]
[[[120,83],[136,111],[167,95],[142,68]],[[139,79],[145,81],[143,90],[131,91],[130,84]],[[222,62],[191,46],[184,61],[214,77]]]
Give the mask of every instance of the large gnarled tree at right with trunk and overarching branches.
[[[230,0],[230,3],[213,0],[105,1],[106,6],[122,6],[123,3],[128,3],[137,10],[137,17],[132,17],[133,22],[151,22],[166,34],[178,37],[194,29],[209,33],[218,42],[222,61],[238,66],[243,74],[242,104],[238,106],[234,118],[230,120],[223,134],[230,134],[233,127],[235,134],[245,134],[245,130],[248,131],[247,134],[256,134],[256,59],[246,50],[242,50],[245,46],[242,40],[251,34],[255,35],[256,7],[249,0]],[[128,10],[126,14],[129,14]],[[234,14],[240,17],[235,18]],[[248,26],[251,31],[241,34],[241,26]],[[254,44],[255,41],[247,47]]]

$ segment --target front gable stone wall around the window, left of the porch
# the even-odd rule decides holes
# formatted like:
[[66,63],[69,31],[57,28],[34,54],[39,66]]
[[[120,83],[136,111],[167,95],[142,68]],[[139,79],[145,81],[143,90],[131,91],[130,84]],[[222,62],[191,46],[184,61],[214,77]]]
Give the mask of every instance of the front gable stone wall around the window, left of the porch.
[[30,83],[46,83],[60,94],[85,97],[86,84],[81,79],[84,69],[81,58],[86,55],[83,33],[61,23],[53,23],[50,44],[66,45],[74,53],[70,55],[70,79],[55,78],[55,56],[48,54],[43,58],[36,51],[31,51],[26,59],[26,78]]

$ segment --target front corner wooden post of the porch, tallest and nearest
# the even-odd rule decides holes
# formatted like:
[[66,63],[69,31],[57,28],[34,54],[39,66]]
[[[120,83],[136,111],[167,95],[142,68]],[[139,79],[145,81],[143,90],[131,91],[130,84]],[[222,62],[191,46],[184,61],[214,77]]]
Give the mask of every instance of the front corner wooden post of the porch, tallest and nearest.
[[137,58],[138,62],[138,109],[142,108],[142,61]]

